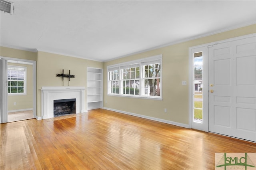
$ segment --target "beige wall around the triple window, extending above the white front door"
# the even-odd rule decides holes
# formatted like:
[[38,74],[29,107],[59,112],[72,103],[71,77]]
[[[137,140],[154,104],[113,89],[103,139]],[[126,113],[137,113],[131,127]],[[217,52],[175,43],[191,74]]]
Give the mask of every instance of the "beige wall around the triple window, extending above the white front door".
[[[188,125],[188,85],[182,85],[182,80],[188,82],[189,79],[188,48],[255,32],[256,24],[105,62],[104,79],[106,80],[108,65],[162,54],[163,100],[107,95],[107,81],[104,81],[104,107]],[[167,109],[167,113],[164,112],[164,108]]]

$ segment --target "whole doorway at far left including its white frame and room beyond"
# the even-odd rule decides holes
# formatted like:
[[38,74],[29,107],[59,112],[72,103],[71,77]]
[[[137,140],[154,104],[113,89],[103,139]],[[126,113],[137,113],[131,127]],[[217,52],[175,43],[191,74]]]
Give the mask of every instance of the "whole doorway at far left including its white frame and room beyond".
[[0,123],[36,118],[36,61],[1,57],[6,69],[1,69]]

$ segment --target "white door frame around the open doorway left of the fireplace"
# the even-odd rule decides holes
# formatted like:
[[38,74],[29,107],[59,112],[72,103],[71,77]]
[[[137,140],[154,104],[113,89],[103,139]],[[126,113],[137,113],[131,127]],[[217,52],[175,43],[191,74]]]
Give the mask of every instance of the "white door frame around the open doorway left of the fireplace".
[[[28,59],[19,59],[19,58],[12,58],[12,57],[2,57],[0,56],[1,59],[7,59],[7,60],[13,60],[13,61],[22,61],[22,62],[28,62],[32,63],[33,65],[33,116],[36,118],[36,61],[34,60],[28,60]],[[1,86],[4,85],[4,82],[0,82]],[[6,101],[7,101],[8,96],[6,96]],[[2,102],[2,101],[1,101]],[[8,114],[8,113],[6,113]],[[6,115],[8,116],[8,115]],[[7,123],[4,122],[4,120],[1,120],[1,123]]]

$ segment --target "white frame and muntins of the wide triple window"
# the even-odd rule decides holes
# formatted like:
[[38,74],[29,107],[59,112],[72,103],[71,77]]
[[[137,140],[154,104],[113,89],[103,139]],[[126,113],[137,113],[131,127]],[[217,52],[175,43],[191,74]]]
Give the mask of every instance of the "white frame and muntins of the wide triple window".
[[[144,83],[144,79],[145,77],[143,77],[144,75],[144,65],[152,65],[152,64],[158,64],[160,63],[160,76],[157,77],[160,79],[160,83],[159,83],[159,88],[160,88],[160,96],[151,96],[151,95],[144,95],[142,94],[142,84]],[[136,66],[139,67],[139,95],[135,95],[135,94],[123,94],[123,81],[126,79],[122,79],[123,77],[123,69],[131,69],[131,68],[136,68]],[[110,71],[119,71],[119,93],[111,93],[111,85],[110,85]],[[162,54],[160,55],[155,55],[152,57],[146,57],[146,58],[142,58],[142,59],[138,59],[138,60],[133,60],[133,61],[128,61],[128,62],[124,62],[124,63],[118,63],[115,65],[108,65],[107,66],[107,71],[108,71],[108,77],[107,77],[107,83],[108,83],[108,91],[107,91],[107,95],[112,95],[112,96],[119,96],[119,97],[134,97],[134,98],[146,98],[146,99],[156,99],[156,100],[162,100]],[[152,78],[156,78],[156,77],[152,77]],[[138,78],[136,78],[135,75],[135,79],[127,79],[127,80],[137,80]],[[134,81],[135,82],[135,81]],[[135,91],[135,90],[134,90]]]

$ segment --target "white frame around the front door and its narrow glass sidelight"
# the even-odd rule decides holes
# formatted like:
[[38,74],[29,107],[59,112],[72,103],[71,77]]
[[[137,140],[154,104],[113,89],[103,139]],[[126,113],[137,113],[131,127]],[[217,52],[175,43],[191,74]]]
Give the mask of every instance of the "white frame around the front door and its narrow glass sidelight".
[[[189,55],[188,55],[188,63],[189,63],[189,81],[188,81],[188,127],[189,128],[192,128],[192,121],[193,121],[193,116],[194,116],[194,112],[193,112],[193,102],[194,102],[194,96],[193,96],[193,91],[194,91],[194,85],[193,85],[193,76],[194,76],[194,65],[193,65],[193,53],[195,51],[195,49],[206,49],[207,50],[207,63],[205,63],[204,65],[207,65],[207,70],[205,70],[203,68],[203,71],[207,71],[207,75],[204,73],[206,77],[204,77],[204,80],[207,80],[207,84],[206,85],[203,85],[203,89],[206,89],[207,90],[207,93],[204,95],[203,93],[203,103],[207,103],[207,119],[209,119],[209,111],[208,111],[208,106],[209,106],[209,96],[208,96],[208,93],[209,93],[209,85],[208,85],[208,47],[211,47],[212,45],[214,44],[220,44],[220,43],[226,43],[226,42],[232,42],[232,41],[236,41],[236,40],[241,40],[241,39],[245,39],[245,38],[251,38],[251,37],[255,37],[256,36],[256,33],[253,33],[253,34],[247,34],[247,35],[244,35],[244,36],[238,36],[238,37],[235,37],[235,38],[229,38],[229,39],[225,39],[225,40],[220,40],[220,41],[216,41],[216,42],[210,42],[210,43],[205,43],[205,44],[202,44],[202,45],[196,45],[196,46],[193,46],[193,47],[189,47],[188,48],[188,51],[189,51]],[[193,53],[192,53],[193,52]],[[203,76],[204,76],[203,75]],[[207,100],[206,100],[207,99]],[[204,106],[203,106],[204,107]],[[208,122],[209,120],[207,120]],[[208,124],[208,123],[207,123]],[[193,127],[194,128],[194,127]],[[203,128],[203,129],[202,129]],[[196,127],[195,129],[197,130],[203,130],[203,131],[206,131],[208,132],[209,131],[209,127],[207,125],[207,129],[206,127]]]

